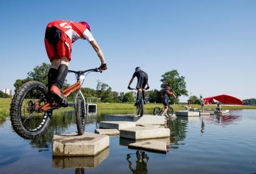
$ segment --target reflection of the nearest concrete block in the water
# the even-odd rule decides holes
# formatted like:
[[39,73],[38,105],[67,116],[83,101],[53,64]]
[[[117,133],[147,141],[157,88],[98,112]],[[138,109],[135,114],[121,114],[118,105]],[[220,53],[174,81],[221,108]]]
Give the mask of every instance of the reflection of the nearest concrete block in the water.
[[94,168],[107,157],[109,157],[109,148],[95,157],[52,157],[52,168]]

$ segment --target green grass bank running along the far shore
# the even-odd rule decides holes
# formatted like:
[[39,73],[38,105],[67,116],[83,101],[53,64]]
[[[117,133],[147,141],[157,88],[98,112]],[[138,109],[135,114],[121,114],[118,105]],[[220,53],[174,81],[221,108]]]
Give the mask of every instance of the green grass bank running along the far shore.
[[[0,122],[2,120],[5,120],[7,117],[9,117],[10,114],[10,104],[11,99],[2,99],[0,98]],[[154,110],[154,107],[162,107],[162,104],[146,104],[145,110]],[[198,108],[200,109],[200,105],[190,105],[192,108]],[[98,103],[97,108],[99,110],[134,110],[134,103],[127,103],[127,104],[119,104],[119,103]],[[174,110],[182,110],[184,109],[183,105],[172,105],[172,108]],[[216,106],[208,106],[205,105],[205,109],[215,109]],[[72,107],[68,107],[67,109],[72,109]],[[235,109],[256,109],[256,106],[235,106],[235,105],[223,105],[222,109],[229,109],[229,110],[235,110]]]

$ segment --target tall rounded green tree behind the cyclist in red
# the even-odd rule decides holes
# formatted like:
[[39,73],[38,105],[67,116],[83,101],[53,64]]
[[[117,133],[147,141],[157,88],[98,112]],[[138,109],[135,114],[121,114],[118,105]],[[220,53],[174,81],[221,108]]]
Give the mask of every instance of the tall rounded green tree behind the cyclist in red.
[[174,92],[177,97],[177,99],[171,98],[172,102],[178,102],[178,98],[181,95],[188,95],[188,91],[186,90],[185,77],[180,76],[177,70],[165,72],[165,74],[163,74],[161,77],[162,79],[160,81],[162,82],[162,91],[164,91],[165,87],[169,86],[170,91]]

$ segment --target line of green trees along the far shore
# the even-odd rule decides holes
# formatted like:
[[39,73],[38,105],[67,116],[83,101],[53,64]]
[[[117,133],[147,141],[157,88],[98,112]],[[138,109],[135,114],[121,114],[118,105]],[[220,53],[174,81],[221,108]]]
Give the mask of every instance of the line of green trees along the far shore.
[[[41,65],[36,65],[34,69],[30,72],[27,72],[27,77],[25,79],[17,79],[14,83],[14,87],[17,90],[21,87],[22,84],[30,81],[30,80],[37,80],[42,82],[47,86],[47,73],[50,69],[51,65],[42,63]],[[185,89],[185,77],[180,76],[177,70],[171,70],[169,72],[165,72],[161,76],[160,79],[160,90],[152,89],[146,92],[147,100],[149,102],[162,102],[162,98],[160,97],[161,94],[164,92],[165,87],[169,86],[170,91],[174,92],[177,96],[177,99],[171,97],[172,104],[179,102],[179,97],[181,95],[187,95],[188,91]],[[69,86],[69,84],[64,84],[64,87]],[[135,101],[135,92],[116,92],[112,91],[112,87],[108,84],[97,80],[96,89],[91,88],[81,88],[82,94],[84,97],[97,97],[101,99],[101,102],[134,102]],[[72,97],[72,95],[71,95]]]

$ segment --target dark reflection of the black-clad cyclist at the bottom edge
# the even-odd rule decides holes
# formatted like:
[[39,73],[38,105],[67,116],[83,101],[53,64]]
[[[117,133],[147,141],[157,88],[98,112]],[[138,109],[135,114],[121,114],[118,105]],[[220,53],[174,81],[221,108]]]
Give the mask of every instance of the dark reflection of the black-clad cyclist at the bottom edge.
[[[136,155],[137,160],[135,169],[132,168],[132,162],[130,161],[131,155]],[[147,173],[147,162],[149,162],[149,157],[145,154],[144,151],[137,150],[136,153],[129,153],[127,154],[126,158],[127,162],[129,163],[129,168],[132,173]]]

